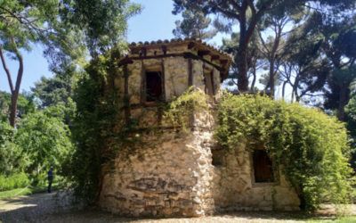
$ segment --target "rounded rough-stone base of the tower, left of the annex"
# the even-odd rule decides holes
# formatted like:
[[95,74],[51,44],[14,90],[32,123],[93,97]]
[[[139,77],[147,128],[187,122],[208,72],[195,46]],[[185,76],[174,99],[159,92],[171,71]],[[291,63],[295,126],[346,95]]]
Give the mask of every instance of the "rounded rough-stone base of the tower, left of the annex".
[[[199,120],[205,126],[209,121]],[[101,207],[125,216],[212,213],[211,129],[146,133],[140,138],[141,145],[120,151],[105,168]]]

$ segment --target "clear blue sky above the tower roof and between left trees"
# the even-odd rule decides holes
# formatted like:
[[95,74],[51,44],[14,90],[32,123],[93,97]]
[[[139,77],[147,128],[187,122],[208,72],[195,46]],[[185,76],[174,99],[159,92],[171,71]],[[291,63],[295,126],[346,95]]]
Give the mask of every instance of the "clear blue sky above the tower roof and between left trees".
[[[171,0],[134,0],[142,4],[143,10],[139,15],[128,21],[127,39],[129,42],[151,41],[158,39],[169,39],[174,37],[174,21],[180,16],[172,14],[173,1]],[[220,45],[222,35],[214,37],[210,44]],[[51,77],[53,74],[48,70],[48,64],[42,55],[40,45],[33,47],[31,52],[24,52],[24,74],[21,83],[21,91],[29,91],[35,82],[42,76]],[[17,73],[18,62],[7,60],[12,74]],[[14,78],[14,77],[13,77]],[[13,81],[15,81],[13,79]],[[7,78],[2,67],[0,67],[0,90],[9,91]]]

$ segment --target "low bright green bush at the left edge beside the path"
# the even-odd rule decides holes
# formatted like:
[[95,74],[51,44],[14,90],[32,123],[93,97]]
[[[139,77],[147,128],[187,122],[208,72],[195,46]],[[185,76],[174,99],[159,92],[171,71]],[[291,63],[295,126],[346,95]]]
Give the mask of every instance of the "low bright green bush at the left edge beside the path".
[[29,180],[25,173],[16,173],[8,177],[0,175],[0,191],[22,188],[28,185]]

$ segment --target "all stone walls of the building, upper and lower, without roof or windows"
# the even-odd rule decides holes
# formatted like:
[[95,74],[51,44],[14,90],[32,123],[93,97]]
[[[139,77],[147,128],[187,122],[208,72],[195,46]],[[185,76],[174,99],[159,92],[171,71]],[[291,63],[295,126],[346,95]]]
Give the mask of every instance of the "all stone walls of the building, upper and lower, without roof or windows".
[[[135,105],[131,107],[131,118],[138,120],[139,128],[158,130],[133,136],[140,143],[121,148],[116,160],[104,168],[102,208],[126,216],[204,216],[214,211],[298,209],[298,198],[280,169],[275,184],[254,184],[251,154],[245,144],[234,151],[216,150],[214,118],[209,111],[195,114],[190,123],[193,130],[183,133],[162,119],[158,106],[142,104],[142,68],[164,70],[166,102],[189,87],[188,59],[183,57],[136,60],[128,65],[129,103]],[[205,72],[213,74],[212,98],[218,97],[219,70],[192,60],[192,85],[203,91]],[[117,77],[115,83],[123,95],[124,77]],[[216,159],[221,160],[219,165],[213,165]]]

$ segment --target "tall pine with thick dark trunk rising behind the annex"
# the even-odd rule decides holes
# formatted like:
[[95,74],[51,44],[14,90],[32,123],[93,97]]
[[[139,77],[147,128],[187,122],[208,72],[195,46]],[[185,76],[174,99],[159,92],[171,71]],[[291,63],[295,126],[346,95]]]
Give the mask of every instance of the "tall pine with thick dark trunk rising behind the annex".
[[[264,25],[267,25],[266,21],[268,20],[266,20],[266,17],[271,14],[279,18],[283,16],[294,17],[296,13],[303,10],[307,12],[311,8],[315,11],[325,12],[327,10],[324,10],[324,7],[329,9],[328,12],[340,13],[354,6],[354,0],[174,0],[173,13],[177,14],[188,10],[192,12],[203,12],[205,15],[213,14],[216,18],[214,25],[222,32],[231,32],[234,24],[239,26],[239,44],[237,45],[237,50],[235,50],[236,54],[234,54],[234,56],[238,57],[235,61],[237,62],[236,67],[238,68],[239,91],[246,92],[248,90],[247,49],[258,25],[262,25],[263,22],[265,23]],[[271,80],[270,82],[272,83],[274,79],[272,78]]]

